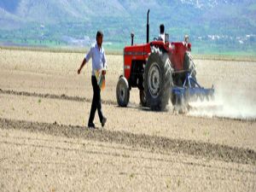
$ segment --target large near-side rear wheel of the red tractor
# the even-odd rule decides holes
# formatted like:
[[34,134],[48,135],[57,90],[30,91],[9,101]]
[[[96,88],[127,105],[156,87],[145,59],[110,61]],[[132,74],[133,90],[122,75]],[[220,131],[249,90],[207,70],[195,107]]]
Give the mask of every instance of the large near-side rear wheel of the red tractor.
[[165,110],[172,94],[172,67],[166,52],[152,49],[144,71],[143,86],[148,107]]

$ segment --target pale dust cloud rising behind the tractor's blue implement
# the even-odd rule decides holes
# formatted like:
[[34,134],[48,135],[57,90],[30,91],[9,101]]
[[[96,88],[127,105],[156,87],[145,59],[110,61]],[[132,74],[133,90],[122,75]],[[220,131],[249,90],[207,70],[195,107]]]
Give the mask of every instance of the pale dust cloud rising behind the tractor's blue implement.
[[256,120],[255,90],[239,90],[236,85],[218,86],[214,101],[189,102],[188,115]]

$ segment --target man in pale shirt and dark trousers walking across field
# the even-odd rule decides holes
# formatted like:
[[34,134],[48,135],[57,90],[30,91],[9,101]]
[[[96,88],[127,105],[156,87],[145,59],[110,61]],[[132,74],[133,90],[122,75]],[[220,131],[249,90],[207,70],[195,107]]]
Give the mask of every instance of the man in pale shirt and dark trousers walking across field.
[[85,55],[84,60],[79,67],[78,73],[80,74],[82,68],[84,67],[85,63],[92,58],[92,72],[91,72],[91,84],[93,87],[93,99],[91,103],[90,108],[90,118],[88,122],[89,128],[95,128],[95,125],[93,123],[96,110],[98,111],[100,121],[102,123],[102,127],[105,125],[107,118],[105,118],[102,114],[102,103],[101,103],[101,89],[99,85],[97,84],[96,79],[96,71],[102,71],[102,74],[105,75],[106,73],[106,67],[107,67],[107,61],[106,61],[106,55],[105,51],[102,47],[102,41],[103,41],[103,33],[101,31],[98,31],[96,33],[96,44],[94,44],[90,51]]

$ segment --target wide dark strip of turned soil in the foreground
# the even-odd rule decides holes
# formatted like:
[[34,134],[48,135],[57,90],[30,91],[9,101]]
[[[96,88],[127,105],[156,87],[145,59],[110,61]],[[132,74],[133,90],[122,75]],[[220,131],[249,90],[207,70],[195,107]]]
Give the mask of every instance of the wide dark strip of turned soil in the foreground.
[[105,143],[120,143],[134,148],[148,148],[159,153],[183,153],[212,160],[256,165],[256,152],[249,148],[232,148],[221,144],[133,134],[125,131],[91,130],[78,125],[58,125],[24,120],[0,119],[0,127],[1,129],[44,132],[59,137],[79,137]]

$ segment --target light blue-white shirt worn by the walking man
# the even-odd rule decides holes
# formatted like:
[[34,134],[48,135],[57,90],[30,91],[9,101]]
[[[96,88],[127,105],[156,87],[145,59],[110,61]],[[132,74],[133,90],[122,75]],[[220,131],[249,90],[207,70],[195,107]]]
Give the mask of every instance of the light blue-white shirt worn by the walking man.
[[98,44],[92,45],[87,55],[85,55],[86,62],[88,62],[90,58],[92,58],[92,76],[95,76],[95,70],[107,68],[105,50],[103,47],[99,49]]

